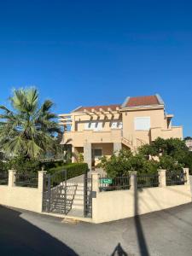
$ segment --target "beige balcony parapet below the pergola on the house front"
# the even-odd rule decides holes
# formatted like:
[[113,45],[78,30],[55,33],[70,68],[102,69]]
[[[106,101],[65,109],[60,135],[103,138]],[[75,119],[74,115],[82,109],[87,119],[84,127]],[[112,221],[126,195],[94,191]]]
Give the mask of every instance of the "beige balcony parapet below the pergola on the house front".
[[121,129],[111,131],[66,131],[63,143],[72,143],[74,147],[83,147],[84,143],[121,143]]

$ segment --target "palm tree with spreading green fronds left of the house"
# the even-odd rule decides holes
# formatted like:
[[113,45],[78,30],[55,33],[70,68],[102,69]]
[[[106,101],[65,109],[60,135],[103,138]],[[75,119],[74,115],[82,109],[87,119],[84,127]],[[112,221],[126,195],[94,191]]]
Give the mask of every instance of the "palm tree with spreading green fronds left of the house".
[[35,88],[14,90],[9,102],[12,110],[0,106],[0,148],[26,159],[55,152],[55,136],[61,130],[55,121],[57,116],[51,113],[53,102],[46,100],[39,106]]

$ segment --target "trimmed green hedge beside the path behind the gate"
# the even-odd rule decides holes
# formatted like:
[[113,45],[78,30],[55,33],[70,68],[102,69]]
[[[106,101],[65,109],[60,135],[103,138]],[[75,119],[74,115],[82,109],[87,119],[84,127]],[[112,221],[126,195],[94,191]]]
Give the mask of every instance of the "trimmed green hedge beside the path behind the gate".
[[64,166],[51,168],[47,171],[49,174],[54,174],[55,172],[60,172],[62,170],[67,170],[67,179],[69,179],[72,177],[77,177],[87,172],[88,165],[86,163],[73,163],[73,164],[67,164]]

